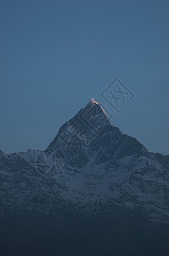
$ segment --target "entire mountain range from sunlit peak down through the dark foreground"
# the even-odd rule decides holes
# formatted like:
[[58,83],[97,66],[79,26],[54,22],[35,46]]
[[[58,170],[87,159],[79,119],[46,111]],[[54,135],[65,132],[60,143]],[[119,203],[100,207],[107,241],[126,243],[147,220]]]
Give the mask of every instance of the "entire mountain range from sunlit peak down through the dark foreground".
[[[0,220],[3,245],[36,241],[34,252],[44,240],[54,249],[57,237],[59,255],[65,239],[72,255],[166,255],[169,155],[123,134],[92,99],[46,150],[0,151]],[[32,230],[50,235],[37,242]]]

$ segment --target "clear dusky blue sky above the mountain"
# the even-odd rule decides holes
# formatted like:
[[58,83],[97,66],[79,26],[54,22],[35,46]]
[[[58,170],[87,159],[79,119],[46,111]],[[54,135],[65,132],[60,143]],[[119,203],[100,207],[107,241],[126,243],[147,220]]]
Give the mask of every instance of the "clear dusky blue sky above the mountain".
[[111,80],[134,98],[111,120],[169,154],[169,2],[0,2],[0,149],[47,148]]

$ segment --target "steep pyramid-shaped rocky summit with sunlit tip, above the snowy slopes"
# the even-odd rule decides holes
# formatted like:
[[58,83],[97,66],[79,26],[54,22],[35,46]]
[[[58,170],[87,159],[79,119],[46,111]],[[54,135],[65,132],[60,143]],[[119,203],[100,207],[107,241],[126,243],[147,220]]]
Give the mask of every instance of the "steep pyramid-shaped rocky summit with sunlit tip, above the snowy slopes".
[[93,99],[60,128],[46,153],[55,150],[59,150],[67,163],[77,167],[85,166],[91,159],[99,164],[147,152],[135,138],[123,135],[110,125],[104,109]]

